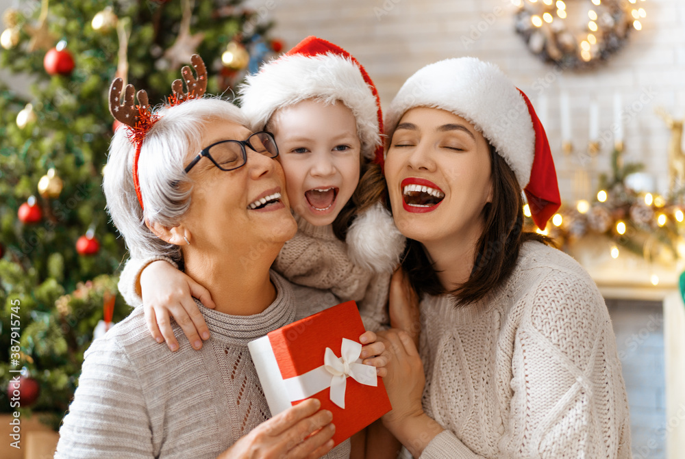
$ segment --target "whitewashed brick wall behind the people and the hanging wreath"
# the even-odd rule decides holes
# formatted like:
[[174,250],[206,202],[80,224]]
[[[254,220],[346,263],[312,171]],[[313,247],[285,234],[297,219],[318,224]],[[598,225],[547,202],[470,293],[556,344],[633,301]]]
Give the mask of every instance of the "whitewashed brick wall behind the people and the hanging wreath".
[[[586,0],[568,0],[573,1]],[[588,1],[588,0],[587,0]],[[638,0],[639,1],[639,0]],[[545,127],[556,159],[562,198],[574,192],[576,153],[564,157],[560,139],[560,92],[570,96],[573,139],[586,150],[590,100],[599,104],[599,129],[608,142],[588,166],[595,179],[609,170],[613,94],[619,91],[630,113],[625,125],[625,160],[645,164],[652,179],[667,181],[669,130],[654,114],[664,107],[685,116],[685,1],[647,0],[643,30],[608,64],[585,73],[559,71],[527,51],[514,32],[509,0],[251,0],[276,23],[274,35],[296,44],[321,36],[348,49],[369,71],[384,107],[421,66],[446,57],[473,55],[498,64],[532,99],[545,94]],[[640,96],[643,101],[640,102]],[[655,191],[665,192],[664,185]]]

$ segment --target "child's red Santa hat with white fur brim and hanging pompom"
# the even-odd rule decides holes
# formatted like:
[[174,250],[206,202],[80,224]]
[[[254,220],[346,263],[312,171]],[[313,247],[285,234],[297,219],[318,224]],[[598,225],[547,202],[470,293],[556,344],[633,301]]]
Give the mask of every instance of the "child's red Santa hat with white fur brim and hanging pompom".
[[[345,49],[310,36],[238,88],[242,112],[255,131],[266,128],[274,112],[301,101],[342,102],[356,120],[366,159],[383,165],[383,114],[378,91],[364,67]],[[374,272],[390,272],[399,263],[405,238],[393,217],[376,203],[352,222],[347,252],[354,263]]]

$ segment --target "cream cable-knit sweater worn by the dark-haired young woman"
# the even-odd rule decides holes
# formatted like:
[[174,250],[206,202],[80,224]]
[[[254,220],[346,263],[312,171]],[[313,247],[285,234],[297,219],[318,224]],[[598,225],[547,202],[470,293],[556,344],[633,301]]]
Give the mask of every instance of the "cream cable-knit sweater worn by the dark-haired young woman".
[[445,428],[421,459],[631,457],[606,305],[559,250],[524,244],[506,284],[479,304],[425,298],[420,354],[423,408]]

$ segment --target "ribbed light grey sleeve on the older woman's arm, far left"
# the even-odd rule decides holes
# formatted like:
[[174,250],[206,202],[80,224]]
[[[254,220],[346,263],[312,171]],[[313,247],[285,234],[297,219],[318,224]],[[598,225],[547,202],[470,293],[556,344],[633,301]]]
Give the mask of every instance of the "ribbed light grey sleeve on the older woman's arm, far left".
[[116,341],[96,340],[60,428],[55,459],[152,458],[149,423],[136,367]]

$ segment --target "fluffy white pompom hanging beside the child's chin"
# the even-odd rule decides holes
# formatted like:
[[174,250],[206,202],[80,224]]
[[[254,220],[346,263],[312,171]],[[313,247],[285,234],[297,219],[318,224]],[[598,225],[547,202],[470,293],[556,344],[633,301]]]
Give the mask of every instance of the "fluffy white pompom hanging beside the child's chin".
[[393,215],[380,202],[354,219],[345,237],[352,263],[373,272],[393,272],[406,245]]

